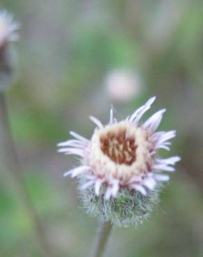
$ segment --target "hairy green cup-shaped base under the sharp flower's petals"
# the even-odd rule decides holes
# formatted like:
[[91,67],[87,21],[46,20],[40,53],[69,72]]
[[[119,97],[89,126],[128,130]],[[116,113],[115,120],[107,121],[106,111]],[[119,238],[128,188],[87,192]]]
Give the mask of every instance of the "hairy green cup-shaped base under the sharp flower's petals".
[[[80,178],[80,185],[84,179]],[[159,193],[163,188],[159,183],[155,190],[149,190],[144,196],[136,190],[122,189],[116,198],[104,199],[105,189],[101,188],[99,197],[94,186],[81,191],[81,200],[86,213],[99,217],[101,222],[111,222],[113,226],[136,226],[149,217],[155,204],[159,202]]]

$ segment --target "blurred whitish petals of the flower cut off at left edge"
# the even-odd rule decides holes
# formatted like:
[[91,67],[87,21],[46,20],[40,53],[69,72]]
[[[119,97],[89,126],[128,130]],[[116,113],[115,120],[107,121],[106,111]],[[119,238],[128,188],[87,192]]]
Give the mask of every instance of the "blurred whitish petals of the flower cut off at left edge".
[[0,47],[10,41],[18,40],[19,23],[13,20],[13,15],[6,11],[0,12]]

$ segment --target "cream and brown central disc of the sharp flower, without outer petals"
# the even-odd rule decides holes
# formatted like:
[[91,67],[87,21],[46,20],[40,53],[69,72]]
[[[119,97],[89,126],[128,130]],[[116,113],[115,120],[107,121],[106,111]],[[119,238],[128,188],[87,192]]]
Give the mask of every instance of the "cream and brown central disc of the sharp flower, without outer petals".
[[87,151],[87,165],[106,182],[127,183],[132,176],[144,176],[152,166],[152,142],[143,128],[129,122],[108,124],[96,129]]

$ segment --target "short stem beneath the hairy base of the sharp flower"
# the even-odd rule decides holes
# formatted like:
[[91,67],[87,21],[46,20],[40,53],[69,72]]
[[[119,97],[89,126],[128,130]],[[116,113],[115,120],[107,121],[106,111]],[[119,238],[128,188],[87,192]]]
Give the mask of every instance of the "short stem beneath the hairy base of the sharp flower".
[[101,223],[98,229],[98,235],[93,246],[91,257],[102,257],[106,244],[108,242],[111,229],[113,228],[111,222]]

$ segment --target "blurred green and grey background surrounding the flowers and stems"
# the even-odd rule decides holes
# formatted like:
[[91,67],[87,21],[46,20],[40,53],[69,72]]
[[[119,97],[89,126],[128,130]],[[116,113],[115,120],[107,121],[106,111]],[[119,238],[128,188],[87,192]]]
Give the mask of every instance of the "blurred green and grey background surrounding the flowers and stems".
[[[167,108],[160,129],[177,129],[171,154],[182,160],[149,221],[114,229],[106,256],[202,257],[202,1],[7,0],[1,8],[22,24],[13,46],[18,67],[8,92],[10,123],[55,256],[88,256],[97,227],[83,213],[76,181],[63,178],[77,160],[57,154],[57,142],[70,138],[70,130],[89,138],[89,115],[107,122],[113,106],[122,119],[156,95],[147,115]],[[1,257],[42,256],[3,165],[0,228]]]

